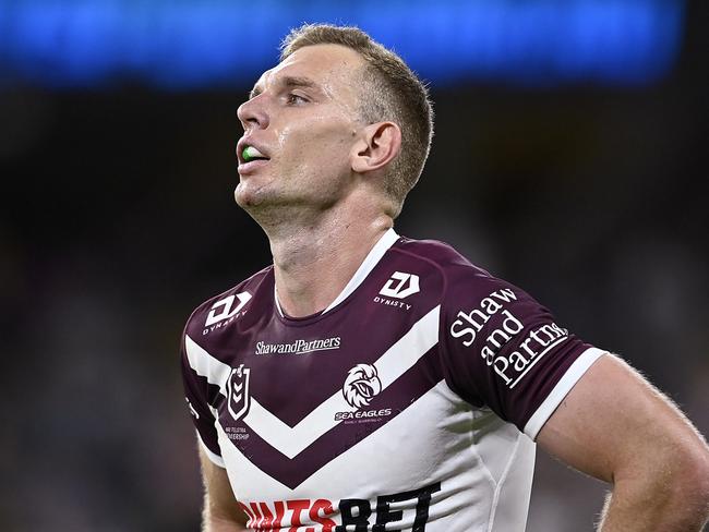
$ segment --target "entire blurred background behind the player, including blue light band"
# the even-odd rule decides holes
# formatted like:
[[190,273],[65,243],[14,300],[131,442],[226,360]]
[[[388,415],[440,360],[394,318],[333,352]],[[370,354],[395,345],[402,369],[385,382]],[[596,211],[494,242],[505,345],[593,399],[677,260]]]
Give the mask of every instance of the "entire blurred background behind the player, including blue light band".
[[[232,200],[235,110],[302,22],[358,24],[431,82],[436,138],[398,231],[526,288],[709,434],[706,15],[0,0],[0,530],[197,530],[179,335],[269,262]],[[540,452],[528,531],[592,530],[604,491]]]

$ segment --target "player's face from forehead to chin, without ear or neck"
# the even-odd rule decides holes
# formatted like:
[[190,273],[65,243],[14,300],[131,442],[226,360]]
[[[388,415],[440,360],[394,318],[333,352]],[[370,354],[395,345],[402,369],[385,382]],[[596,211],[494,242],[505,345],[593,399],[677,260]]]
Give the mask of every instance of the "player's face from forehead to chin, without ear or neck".
[[[247,208],[325,209],[347,193],[359,121],[356,73],[364,64],[337,45],[307,46],[265,72],[238,110],[237,203]],[[265,159],[248,161],[252,146]]]

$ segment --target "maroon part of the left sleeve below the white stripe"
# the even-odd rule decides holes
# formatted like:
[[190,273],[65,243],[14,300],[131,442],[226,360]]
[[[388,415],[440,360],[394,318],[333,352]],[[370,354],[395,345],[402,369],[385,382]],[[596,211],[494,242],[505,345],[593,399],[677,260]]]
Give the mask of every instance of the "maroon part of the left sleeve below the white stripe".
[[[190,411],[192,422],[194,423],[200,438],[204,446],[216,457],[221,457],[219,444],[217,442],[217,431],[215,428],[214,414],[209,410],[209,397],[214,396],[211,390],[212,385],[205,377],[196,374],[191,367],[190,360],[184,344],[184,335],[180,347],[182,359],[182,384],[184,386],[184,398]],[[214,460],[215,457],[211,457]]]

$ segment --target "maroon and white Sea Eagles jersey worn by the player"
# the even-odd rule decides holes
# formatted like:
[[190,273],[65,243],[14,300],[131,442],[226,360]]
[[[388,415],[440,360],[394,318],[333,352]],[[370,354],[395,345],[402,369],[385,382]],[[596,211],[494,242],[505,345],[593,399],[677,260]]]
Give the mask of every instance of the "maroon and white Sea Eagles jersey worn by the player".
[[324,312],[273,267],[190,317],[182,371],[254,530],[522,531],[538,432],[602,354],[450,246],[389,230]]

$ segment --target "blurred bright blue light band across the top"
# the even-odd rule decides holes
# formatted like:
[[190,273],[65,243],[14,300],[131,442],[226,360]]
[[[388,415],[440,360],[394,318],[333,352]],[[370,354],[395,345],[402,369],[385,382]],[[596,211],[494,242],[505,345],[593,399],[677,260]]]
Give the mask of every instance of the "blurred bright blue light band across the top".
[[648,84],[674,64],[677,0],[50,0],[0,3],[0,83],[250,85],[303,22],[354,24],[424,78]]

